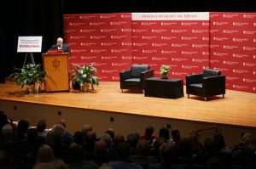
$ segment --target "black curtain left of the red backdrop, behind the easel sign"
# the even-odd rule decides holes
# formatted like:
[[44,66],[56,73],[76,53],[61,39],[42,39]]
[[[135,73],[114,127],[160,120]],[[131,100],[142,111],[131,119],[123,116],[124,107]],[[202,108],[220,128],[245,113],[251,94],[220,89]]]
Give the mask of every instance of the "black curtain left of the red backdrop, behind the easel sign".
[[[18,37],[42,36],[42,53],[57,37],[63,37],[63,0],[4,0],[1,4],[0,82],[9,76],[14,66],[23,65],[26,53],[17,53]],[[30,56],[30,55],[29,55]],[[42,54],[33,54],[36,64]],[[31,62],[30,57],[26,63]]]

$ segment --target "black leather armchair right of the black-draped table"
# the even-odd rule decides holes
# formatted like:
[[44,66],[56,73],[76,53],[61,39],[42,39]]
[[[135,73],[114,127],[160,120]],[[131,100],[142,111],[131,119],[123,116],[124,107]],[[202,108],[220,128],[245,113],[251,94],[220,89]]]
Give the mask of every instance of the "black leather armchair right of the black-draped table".
[[189,94],[207,97],[225,94],[225,76],[221,76],[220,70],[206,69],[202,74],[187,75],[186,76],[186,89]]

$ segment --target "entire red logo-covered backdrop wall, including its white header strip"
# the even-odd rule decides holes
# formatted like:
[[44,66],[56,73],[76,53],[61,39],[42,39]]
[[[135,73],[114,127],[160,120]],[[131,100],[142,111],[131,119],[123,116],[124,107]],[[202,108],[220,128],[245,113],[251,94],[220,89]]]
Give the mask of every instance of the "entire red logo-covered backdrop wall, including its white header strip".
[[160,76],[167,64],[169,77],[219,69],[227,89],[256,93],[255,13],[65,14],[64,23],[70,63],[94,62],[101,81],[131,64]]

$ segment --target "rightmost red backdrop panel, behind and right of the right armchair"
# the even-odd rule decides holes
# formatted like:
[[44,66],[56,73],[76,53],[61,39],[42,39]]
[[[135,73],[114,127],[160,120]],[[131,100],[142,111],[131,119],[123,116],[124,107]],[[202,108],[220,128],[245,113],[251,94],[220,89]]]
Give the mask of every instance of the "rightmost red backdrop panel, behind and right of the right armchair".
[[226,87],[256,93],[256,14],[210,13],[210,66]]

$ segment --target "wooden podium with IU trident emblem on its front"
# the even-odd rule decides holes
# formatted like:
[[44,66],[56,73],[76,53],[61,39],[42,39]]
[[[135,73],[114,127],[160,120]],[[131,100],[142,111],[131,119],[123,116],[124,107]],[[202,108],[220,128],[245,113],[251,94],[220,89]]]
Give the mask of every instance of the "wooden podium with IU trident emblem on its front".
[[43,54],[45,92],[69,91],[68,53]]

